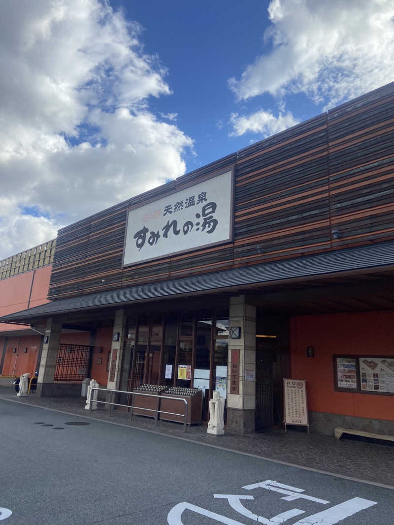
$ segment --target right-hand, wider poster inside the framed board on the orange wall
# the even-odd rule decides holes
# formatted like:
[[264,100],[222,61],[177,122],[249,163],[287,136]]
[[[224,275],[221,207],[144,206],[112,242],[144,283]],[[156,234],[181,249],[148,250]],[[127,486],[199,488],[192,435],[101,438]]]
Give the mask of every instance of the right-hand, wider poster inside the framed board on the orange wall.
[[394,393],[394,357],[359,358],[361,390]]

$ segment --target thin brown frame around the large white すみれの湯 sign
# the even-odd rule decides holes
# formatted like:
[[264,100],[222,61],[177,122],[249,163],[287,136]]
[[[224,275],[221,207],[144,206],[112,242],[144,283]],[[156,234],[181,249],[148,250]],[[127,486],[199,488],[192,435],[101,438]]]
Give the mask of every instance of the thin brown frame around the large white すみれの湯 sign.
[[[222,239],[222,240],[219,240],[219,241],[214,241],[213,243],[208,243],[208,244],[204,244],[204,245],[195,246],[195,247],[192,247],[192,248],[187,248],[187,249],[184,249],[184,250],[173,251],[171,253],[164,254],[164,255],[157,255],[157,256],[154,256],[154,257],[141,259],[139,261],[133,261],[133,262],[126,262],[125,263],[126,241],[127,241],[127,233],[128,233],[128,225],[129,225],[129,214],[130,214],[131,211],[133,211],[134,209],[138,209],[138,208],[141,208],[143,206],[146,206],[147,204],[153,204],[154,202],[160,201],[162,198],[170,198],[174,194],[177,194],[179,192],[188,190],[189,188],[191,188],[193,186],[201,184],[201,183],[203,183],[205,181],[209,181],[212,178],[219,177],[220,175],[224,175],[225,173],[229,173],[229,172],[231,173],[231,175],[230,175],[231,188],[230,188],[230,203],[229,203],[229,209],[230,209],[230,224],[229,224],[229,228],[230,228],[230,230],[229,230],[229,237],[228,238]],[[174,255],[181,255],[181,254],[183,255],[183,254],[191,253],[192,251],[208,248],[210,246],[220,246],[222,244],[228,244],[228,243],[231,243],[233,241],[233,239],[234,239],[234,207],[235,207],[235,205],[234,205],[234,165],[227,166],[226,168],[221,169],[221,170],[216,170],[216,171],[210,173],[209,175],[205,175],[203,177],[199,177],[198,179],[194,179],[194,180],[188,182],[187,184],[179,184],[177,186],[178,187],[173,187],[172,190],[169,191],[168,193],[163,193],[162,195],[157,195],[155,197],[148,198],[146,201],[142,201],[142,202],[140,202],[138,204],[132,204],[132,205],[130,205],[127,208],[125,236],[123,238],[122,268],[128,268],[128,267],[131,267],[131,266],[137,266],[137,265],[145,264],[146,262],[149,262],[149,261],[160,260],[160,259],[163,259],[163,258],[172,257]]]

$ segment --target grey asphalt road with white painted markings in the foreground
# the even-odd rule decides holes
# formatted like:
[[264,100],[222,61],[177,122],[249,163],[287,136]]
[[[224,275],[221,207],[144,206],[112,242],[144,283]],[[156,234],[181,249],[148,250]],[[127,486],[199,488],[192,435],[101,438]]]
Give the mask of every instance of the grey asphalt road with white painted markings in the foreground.
[[394,490],[1,400],[0,447],[4,525],[394,522]]

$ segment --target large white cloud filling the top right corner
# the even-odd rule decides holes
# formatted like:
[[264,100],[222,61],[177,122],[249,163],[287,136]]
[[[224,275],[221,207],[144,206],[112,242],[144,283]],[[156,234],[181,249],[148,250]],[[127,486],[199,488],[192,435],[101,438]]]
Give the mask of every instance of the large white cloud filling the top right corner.
[[393,0],[272,0],[269,51],[229,85],[239,100],[304,92],[325,107],[394,79]]

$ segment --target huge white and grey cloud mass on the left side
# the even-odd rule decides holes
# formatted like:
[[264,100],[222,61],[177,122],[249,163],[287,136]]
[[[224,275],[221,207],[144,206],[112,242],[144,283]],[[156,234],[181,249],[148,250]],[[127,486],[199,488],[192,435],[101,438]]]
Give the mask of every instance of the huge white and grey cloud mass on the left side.
[[140,32],[99,0],[0,3],[0,259],[185,172],[193,142],[149,109],[170,89]]

